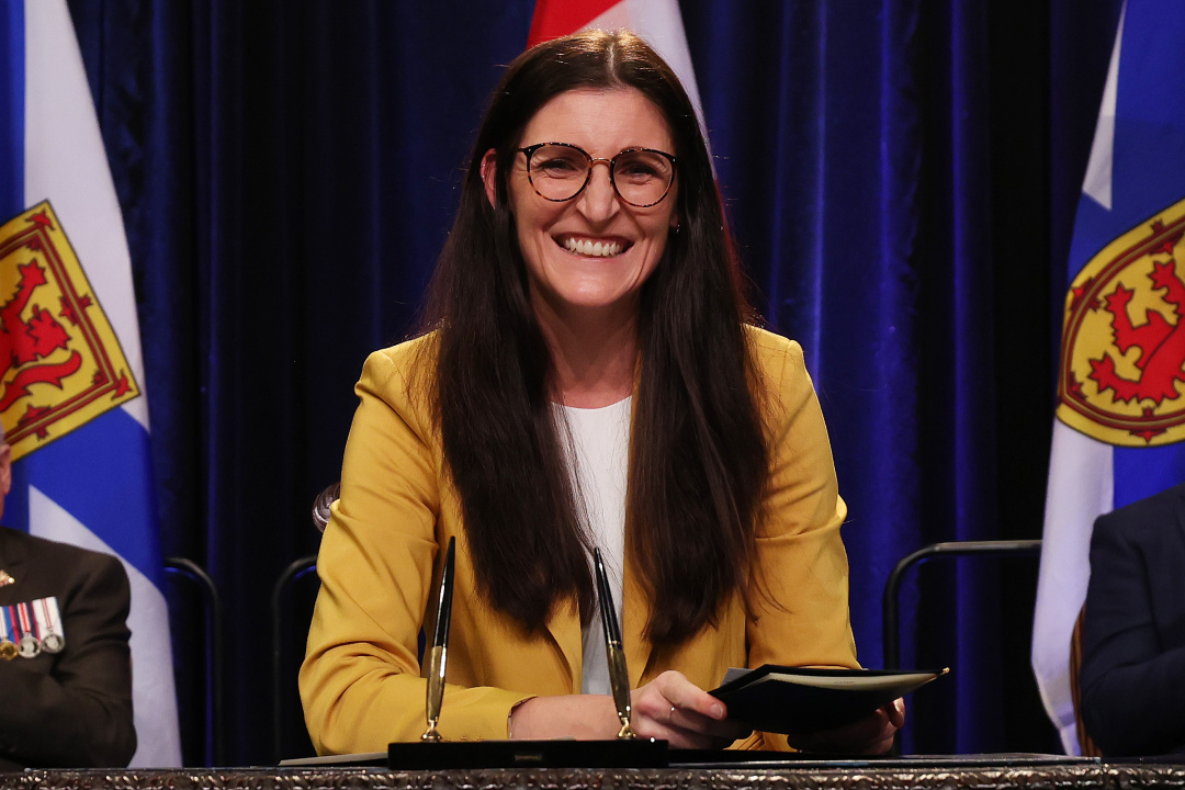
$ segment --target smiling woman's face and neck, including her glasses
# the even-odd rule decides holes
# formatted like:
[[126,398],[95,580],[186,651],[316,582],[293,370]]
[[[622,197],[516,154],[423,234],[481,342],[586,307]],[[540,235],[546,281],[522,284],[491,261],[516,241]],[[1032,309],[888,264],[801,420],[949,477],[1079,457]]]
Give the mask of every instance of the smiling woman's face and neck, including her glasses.
[[[673,140],[659,109],[632,88],[556,96],[523,130],[521,141],[533,140],[571,142],[520,148],[508,178],[531,304],[552,348],[574,338],[579,348],[572,352],[579,354],[598,328],[611,332],[600,355],[619,358],[615,381],[604,380],[604,371],[591,371],[595,380],[569,366],[557,371],[562,403],[608,406],[633,390],[636,346],[629,339],[636,336],[641,288],[662,258],[667,233],[678,227],[674,156],[662,153]],[[491,149],[482,160],[491,204],[498,192],[495,159]]]

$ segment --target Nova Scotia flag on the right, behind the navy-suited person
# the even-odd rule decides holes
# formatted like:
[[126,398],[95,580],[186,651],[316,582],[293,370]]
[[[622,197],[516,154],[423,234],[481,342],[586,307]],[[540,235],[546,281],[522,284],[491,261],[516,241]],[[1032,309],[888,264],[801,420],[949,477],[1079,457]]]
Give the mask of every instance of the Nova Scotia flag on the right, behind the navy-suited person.
[[1033,670],[1071,754],[1094,520],[1185,481],[1183,235],[1185,2],[1127,0],[1075,217],[1033,621]]

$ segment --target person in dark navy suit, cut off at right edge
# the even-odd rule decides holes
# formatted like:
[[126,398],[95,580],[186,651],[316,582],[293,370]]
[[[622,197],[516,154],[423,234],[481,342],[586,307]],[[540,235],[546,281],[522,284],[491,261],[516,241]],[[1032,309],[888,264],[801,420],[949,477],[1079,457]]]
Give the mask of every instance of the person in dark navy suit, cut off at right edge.
[[1078,685],[1104,754],[1185,753],[1185,483],[1095,521]]

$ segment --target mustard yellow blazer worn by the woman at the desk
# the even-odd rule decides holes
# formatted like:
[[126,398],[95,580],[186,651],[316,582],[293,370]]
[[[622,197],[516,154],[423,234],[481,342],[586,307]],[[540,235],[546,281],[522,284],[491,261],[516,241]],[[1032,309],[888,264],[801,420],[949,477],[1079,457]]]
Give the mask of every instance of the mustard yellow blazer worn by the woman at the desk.
[[[305,720],[319,753],[385,750],[423,732],[425,681],[417,637],[430,634],[431,592],[442,547],[456,537],[456,586],[446,739],[506,738],[511,708],[530,696],[579,694],[581,622],[558,606],[545,634],[527,634],[478,592],[460,501],[423,397],[409,397],[415,365],[431,364],[431,336],[371,354],[346,444],[341,499],[321,541],[321,590],[300,672]],[[773,437],[767,518],[757,561],[771,598],[755,616],[735,597],[716,627],[674,649],[642,636],[652,602],[626,558],[622,637],[629,680],[642,686],[677,669],[697,686],[719,685],[729,667],[762,663],[856,667],[847,611],[847,555],[827,429],[798,343],[752,329]],[[428,349],[430,352],[430,349]],[[755,733],[737,746],[784,749]]]

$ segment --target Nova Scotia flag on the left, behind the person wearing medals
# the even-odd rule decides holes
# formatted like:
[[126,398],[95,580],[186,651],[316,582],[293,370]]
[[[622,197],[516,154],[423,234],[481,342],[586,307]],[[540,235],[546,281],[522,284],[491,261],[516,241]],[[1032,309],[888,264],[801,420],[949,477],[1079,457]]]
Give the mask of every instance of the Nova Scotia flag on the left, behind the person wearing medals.
[[[46,200],[51,208],[38,219],[20,217]],[[46,263],[49,284],[26,282],[24,274],[18,282],[15,266],[0,272],[0,306],[26,288],[33,311],[41,310],[36,329],[23,323],[21,332],[44,338],[52,323],[70,338],[23,366],[8,347],[13,327],[6,323],[0,338],[0,412],[18,458],[5,522],[123,560],[139,739],[132,765],[180,765],[130,259],[65,0],[0,0],[0,225],[2,235],[33,225],[59,233],[82,268],[70,275]],[[50,261],[44,240],[8,245],[12,255],[31,249]],[[59,293],[52,288],[62,295],[49,301],[46,294]],[[5,315],[7,322],[15,314]],[[28,315],[20,320],[33,321]],[[77,380],[62,374],[71,366]],[[38,368],[21,379],[34,381],[24,391],[13,386],[20,367]]]

